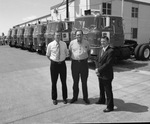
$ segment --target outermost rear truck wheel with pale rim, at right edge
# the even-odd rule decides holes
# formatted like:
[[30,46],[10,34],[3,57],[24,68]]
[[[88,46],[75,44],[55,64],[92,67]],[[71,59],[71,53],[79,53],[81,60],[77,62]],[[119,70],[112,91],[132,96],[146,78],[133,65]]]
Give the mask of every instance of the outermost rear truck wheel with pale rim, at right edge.
[[150,47],[149,45],[142,45],[139,50],[140,60],[147,60],[150,57]]

